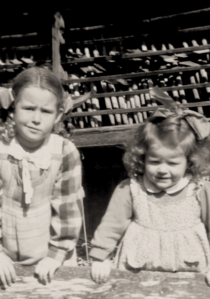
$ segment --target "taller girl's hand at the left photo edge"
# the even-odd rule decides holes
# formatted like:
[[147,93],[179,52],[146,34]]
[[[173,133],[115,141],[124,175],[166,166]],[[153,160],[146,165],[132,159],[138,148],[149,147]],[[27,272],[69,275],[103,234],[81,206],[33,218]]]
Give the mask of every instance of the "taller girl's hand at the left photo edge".
[[16,273],[12,260],[4,252],[0,252],[0,281],[4,288],[15,282]]

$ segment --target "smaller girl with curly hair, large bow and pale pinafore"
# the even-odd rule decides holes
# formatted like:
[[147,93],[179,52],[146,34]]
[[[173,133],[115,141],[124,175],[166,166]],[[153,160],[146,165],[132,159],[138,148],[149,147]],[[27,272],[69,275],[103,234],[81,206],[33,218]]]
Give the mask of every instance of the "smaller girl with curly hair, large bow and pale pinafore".
[[130,179],[116,187],[92,240],[96,282],[107,279],[121,237],[119,269],[210,269],[209,123],[157,87],[151,93],[166,108],[139,125],[125,152]]

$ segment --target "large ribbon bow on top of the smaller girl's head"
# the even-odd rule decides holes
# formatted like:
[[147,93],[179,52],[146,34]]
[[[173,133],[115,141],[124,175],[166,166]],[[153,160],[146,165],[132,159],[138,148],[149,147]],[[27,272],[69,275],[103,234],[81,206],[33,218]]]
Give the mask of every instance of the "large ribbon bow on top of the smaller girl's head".
[[157,108],[157,110],[150,117],[150,121],[157,118],[168,118],[175,115],[183,116],[194,132],[197,134],[197,139],[202,140],[210,133],[210,124],[204,115],[186,109],[182,104],[177,104],[169,95],[166,95],[158,86],[155,86],[149,91],[150,96],[164,105],[164,108]]

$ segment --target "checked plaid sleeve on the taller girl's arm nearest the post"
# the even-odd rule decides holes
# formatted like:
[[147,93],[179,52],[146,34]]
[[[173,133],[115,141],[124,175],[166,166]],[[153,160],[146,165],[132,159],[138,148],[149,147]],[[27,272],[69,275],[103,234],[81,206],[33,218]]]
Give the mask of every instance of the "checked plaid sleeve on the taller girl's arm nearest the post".
[[48,257],[64,262],[76,245],[82,225],[84,197],[81,161],[76,147],[64,142],[63,161],[51,200],[51,239]]

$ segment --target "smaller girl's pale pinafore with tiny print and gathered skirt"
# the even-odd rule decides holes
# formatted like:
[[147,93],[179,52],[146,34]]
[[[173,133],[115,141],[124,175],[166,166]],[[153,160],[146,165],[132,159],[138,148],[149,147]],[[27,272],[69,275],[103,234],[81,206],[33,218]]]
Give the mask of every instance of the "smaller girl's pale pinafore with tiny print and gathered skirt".
[[190,181],[186,197],[149,197],[142,177],[131,179],[134,220],[115,257],[120,269],[206,272],[210,249],[201,222],[200,188],[204,180]]

